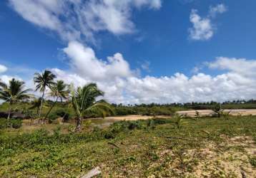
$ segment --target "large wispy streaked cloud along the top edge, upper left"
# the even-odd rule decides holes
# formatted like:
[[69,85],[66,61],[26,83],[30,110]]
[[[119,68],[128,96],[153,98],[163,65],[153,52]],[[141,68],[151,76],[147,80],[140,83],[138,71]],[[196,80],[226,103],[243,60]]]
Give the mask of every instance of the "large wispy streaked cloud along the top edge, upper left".
[[59,33],[67,41],[87,38],[94,32],[116,35],[132,33],[132,8],[159,9],[161,0],[9,0],[11,7],[26,21]]

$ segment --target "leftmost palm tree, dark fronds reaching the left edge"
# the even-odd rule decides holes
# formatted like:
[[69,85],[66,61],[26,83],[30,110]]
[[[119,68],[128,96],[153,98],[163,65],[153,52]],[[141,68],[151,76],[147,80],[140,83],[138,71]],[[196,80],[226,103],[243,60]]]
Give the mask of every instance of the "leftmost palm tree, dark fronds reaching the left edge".
[[23,81],[14,78],[9,80],[9,85],[1,83],[0,99],[9,103],[8,120],[10,119],[12,104],[31,98],[31,95],[27,94],[31,89],[24,90],[24,84]]

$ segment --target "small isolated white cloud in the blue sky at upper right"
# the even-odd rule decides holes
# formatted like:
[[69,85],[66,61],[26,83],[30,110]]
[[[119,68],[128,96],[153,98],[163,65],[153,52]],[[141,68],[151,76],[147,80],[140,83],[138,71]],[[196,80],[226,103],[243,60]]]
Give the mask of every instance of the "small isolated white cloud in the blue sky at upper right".
[[205,41],[212,38],[215,30],[217,29],[212,24],[212,19],[217,14],[222,14],[227,11],[224,4],[218,4],[217,6],[210,6],[210,11],[207,17],[202,18],[196,9],[192,9],[189,20],[193,27],[189,28],[189,38],[195,41]]

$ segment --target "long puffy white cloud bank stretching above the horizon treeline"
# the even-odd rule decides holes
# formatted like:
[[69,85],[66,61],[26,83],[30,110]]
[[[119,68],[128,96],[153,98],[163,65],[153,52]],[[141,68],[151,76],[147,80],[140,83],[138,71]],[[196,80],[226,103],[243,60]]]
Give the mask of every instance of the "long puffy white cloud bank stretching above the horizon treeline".
[[139,77],[120,53],[101,60],[92,48],[76,41],[69,43],[64,53],[70,58],[71,68],[52,69],[57,77],[74,85],[96,82],[104,90],[104,98],[112,103],[224,101],[250,99],[256,95],[255,60],[216,58],[205,64],[212,70],[223,70],[215,76],[175,73],[162,77]]

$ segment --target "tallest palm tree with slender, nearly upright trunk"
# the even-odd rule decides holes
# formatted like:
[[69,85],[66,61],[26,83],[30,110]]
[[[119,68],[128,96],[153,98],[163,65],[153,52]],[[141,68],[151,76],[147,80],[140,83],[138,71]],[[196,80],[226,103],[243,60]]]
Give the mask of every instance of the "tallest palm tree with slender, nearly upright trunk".
[[49,70],[44,70],[44,73],[35,73],[34,74],[34,83],[36,85],[36,91],[40,90],[42,94],[41,96],[41,104],[40,104],[40,110],[39,110],[39,117],[41,116],[41,106],[43,105],[44,102],[44,92],[46,87],[50,88],[51,85],[54,84],[54,78],[56,76],[51,73]]

